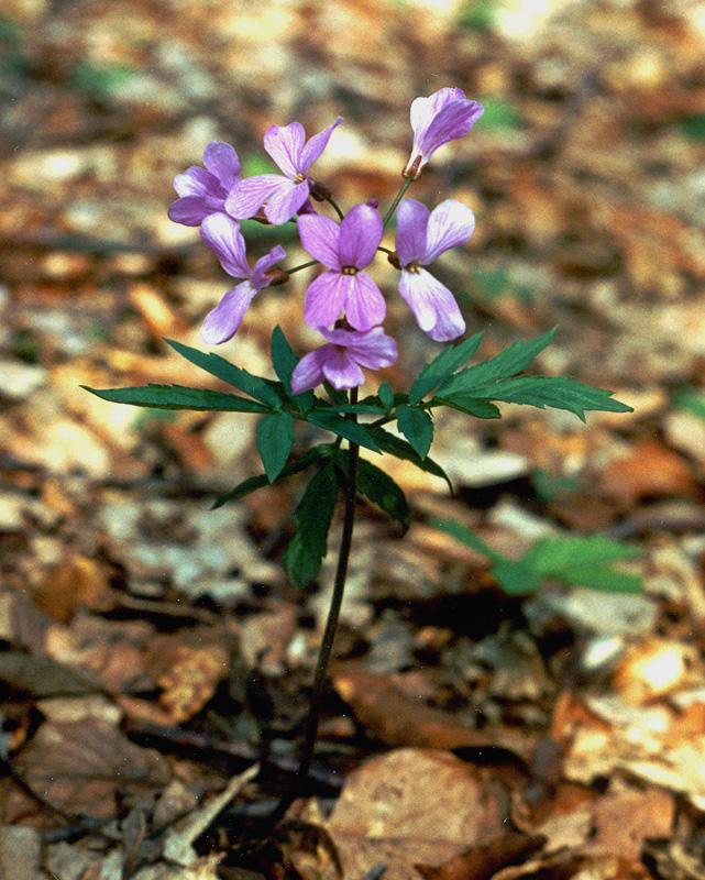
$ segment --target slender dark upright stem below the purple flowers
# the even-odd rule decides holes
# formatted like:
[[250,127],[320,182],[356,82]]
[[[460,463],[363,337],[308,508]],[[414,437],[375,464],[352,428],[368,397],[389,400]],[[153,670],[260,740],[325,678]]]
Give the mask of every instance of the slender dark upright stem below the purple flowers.
[[[351,388],[350,403],[357,403],[357,388]],[[355,414],[349,414],[346,418],[356,420]],[[313,692],[311,694],[310,710],[306,721],[306,732],[304,736],[304,747],[301,749],[301,760],[296,771],[296,777],[289,790],[284,794],[269,816],[267,816],[266,829],[271,831],[284,817],[286,811],[300,795],[301,790],[308,778],[313,761],[316,749],[316,738],[318,736],[318,725],[321,713],[321,702],[323,697],[323,685],[326,674],[333,651],[335,630],[340,618],[340,609],[345,592],[345,579],[348,576],[348,561],[350,560],[350,549],[352,547],[353,526],[355,524],[355,502],[357,498],[357,461],[360,459],[360,447],[357,443],[349,442],[350,455],[348,479],[345,482],[345,513],[343,516],[343,534],[338,551],[338,566],[335,569],[335,580],[333,582],[333,595],[331,597],[326,629],[321,639],[321,647],[316,662],[316,674],[313,676]]]

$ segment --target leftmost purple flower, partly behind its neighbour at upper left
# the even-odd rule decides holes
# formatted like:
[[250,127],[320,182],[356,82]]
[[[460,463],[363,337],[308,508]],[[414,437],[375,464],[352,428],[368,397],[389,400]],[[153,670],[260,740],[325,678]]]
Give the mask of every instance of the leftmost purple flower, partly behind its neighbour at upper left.
[[203,151],[203,165],[191,165],[174,178],[179,198],[172,202],[169,220],[197,227],[212,213],[224,212],[225,199],[240,180],[240,160],[230,144],[213,141]]

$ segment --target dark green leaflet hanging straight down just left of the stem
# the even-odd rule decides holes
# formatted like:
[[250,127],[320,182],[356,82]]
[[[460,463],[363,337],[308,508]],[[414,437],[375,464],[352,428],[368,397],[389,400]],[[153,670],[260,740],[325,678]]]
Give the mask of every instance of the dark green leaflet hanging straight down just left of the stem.
[[284,565],[296,586],[307,586],[320,571],[337,497],[338,483],[331,461],[308,484],[294,515],[296,531],[284,554]]

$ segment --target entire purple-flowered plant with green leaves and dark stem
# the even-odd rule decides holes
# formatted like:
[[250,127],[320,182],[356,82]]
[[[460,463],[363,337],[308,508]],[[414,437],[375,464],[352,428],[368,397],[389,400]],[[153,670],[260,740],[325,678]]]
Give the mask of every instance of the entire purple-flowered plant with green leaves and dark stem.
[[[169,208],[172,220],[199,226],[206,245],[225,272],[239,279],[206,317],[201,336],[210,345],[231,340],[253,297],[268,286],[286,283],[290,275],[320,264],[322,272],[309,284],[302,304],[304,319],[323,343],[302,358],[293,351],[282,329],[272,332],[271,355],[276,380],[256,376],[214,352],[180,342],[169,344],[197,367],[227,383],[233,391],[147,385],[89,388],[106,400],[158,409],[235,411],[260,416],[256,444],[264,473],[250,477],[216,501],[214,507],[235,502],[271,483],[308,471],[310,482],[295,512],[294,535],[284,564],[298,586],[313,582],[327,553],[328,534],[339,493],[344,516],[331,609],[316,668],[312,705],[296,783],[273,814],[273,822],[300,792],[310,768],[317,737],[320,700],[342,603],[350,557],[355,503],[359,493],[378,505],[404,529],[410,510],[403,491],[376,463],[360,458],[361,447],[379,455],[411,462],[439,477],[448,477],[430,457],[433,416],[449,407],[474,418],[500,416],[498,403],[554,407],[584,420],[588,410],[626,413],[630,407],[610,392],[593,388],[565,376],[524,374],[522,371],[550,343],[554,330],[528,341],[517,341],[489,360],[474,359],[482,333],[461,338],[465,322],[453,294],[429,271],[451,248],[464,244],[475,219],[462,202],[448,199],[432,210],[405,198],[436,151],[465,136],[483,112],[476,101],[455,88],[444,88],[411,105],[414,142],[401,172],[400,190],[384,216],[376,200],[343,213],[331,191],[310,177],[309,170],[327,147],[340,118],[306,141],[298,122],[272,125],[264,146],[282,174],[242,179],[234,148],[214,142],[206,147],[205,168],[194,166],[174,182],[178,199]],[[334,139],[333,139],[334,140]],[[332,217],[323,213],[331,210]],[[384,231],[396,215],[396,250],[382,245]],[[311,261],[288,270],[280,245],[254,266],[239,220],[295,223]],[[440,352],[420,371],[407,389],[382,382],[376,393],[359,399],[363,370],[393,365],[395,340],[383,329],[386,302],[374,280],[373,264],[379,253],[399,271],[399,294],[420,329],[441,343]],[[167,340],[168,341],[168,340]],[[234,348],[236,360],[236,345]],[[298,457],[291,455],[295,425],[309,422],[332,435]],[[396,427],[396,431],[389,428]],[[450,485],[450,484],[449,484]]]

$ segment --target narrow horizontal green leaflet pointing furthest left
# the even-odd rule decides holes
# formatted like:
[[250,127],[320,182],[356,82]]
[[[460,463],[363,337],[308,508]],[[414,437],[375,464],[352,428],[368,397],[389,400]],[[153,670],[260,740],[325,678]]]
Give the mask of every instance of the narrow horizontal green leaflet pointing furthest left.
[[181,385],[141,385],[133,388],[89,388],[87,392],[113,404],[148,406],[154,409],[218,409],[225,413],[269,413],[269,407],[236,394],[208,388],[185,388]]

